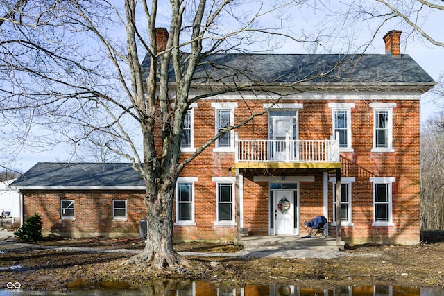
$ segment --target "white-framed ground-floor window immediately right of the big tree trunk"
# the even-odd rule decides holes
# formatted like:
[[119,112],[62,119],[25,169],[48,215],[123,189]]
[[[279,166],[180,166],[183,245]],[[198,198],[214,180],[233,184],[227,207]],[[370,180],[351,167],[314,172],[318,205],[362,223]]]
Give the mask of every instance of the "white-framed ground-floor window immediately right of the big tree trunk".
[[194,182],[197,177],[179,177],[176,182],[176,225],[196,225],[194,222]]

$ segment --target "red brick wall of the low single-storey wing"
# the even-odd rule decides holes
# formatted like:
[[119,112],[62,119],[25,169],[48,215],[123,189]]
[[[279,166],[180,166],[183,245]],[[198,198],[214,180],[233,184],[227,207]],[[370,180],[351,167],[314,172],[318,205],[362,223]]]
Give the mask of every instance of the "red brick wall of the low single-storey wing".
[[[139,234],[146,218],[141,191],[22,191],[24,219],[42,216],[43,232],[62,236],[125,236]],[[75,200],[75,220],[62,220],[60,200]],[[112,200],[127,200],[128,219],[112,220]]]

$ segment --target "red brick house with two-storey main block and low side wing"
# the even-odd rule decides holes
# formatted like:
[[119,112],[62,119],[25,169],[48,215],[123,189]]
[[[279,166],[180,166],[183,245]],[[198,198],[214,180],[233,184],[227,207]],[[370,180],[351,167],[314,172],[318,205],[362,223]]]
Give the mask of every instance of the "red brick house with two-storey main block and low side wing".
[[[305,220],[325,216],[329,236],[347,243],[419,243],[420,95],[435,82],[400,54],[399,39],[387,33],[384,55],[208,58],[190,97],[233,77],[260,87],[191,104],[183,157],[208,131],[264,113],[182,171],[174,239],[304,236]],[[12,186],[45,234],[138,235],[144,219],[144,184],[129,164],[41,163]]]

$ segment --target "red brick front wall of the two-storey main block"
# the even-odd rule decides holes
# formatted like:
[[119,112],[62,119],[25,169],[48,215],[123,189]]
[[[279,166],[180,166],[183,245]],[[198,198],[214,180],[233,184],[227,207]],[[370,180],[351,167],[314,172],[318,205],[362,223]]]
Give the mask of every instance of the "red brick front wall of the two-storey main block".
[[[328,103],[350,101],[301,100],[303,109],[298,112],[299,139],[330,139],[332,134],[332,109]],[[380,102],[380,101],[379,101]],[[354,227],[343,227],[348,242],[417,243],[419,241],[419,102],[389,101],[393,109],[393,148],[395,153],[371,153],[373,148],[373,108],[369,101],[352,101],[352,153],[341,153],[343,177],[355,177],[352,183],[352,222]],[[250,112],[262,110],[264,101],[238,101],[234,109],[235,121],[244,119]],[[295,103],[282,101],[281,103]],[[210,101],[200,101],[194,111],[194,146],[199,147],[214,131],[214,108]],[[245,104],[248,104],[246,107]],[[268,117],[255,120],[237,130],[239,139],[267,139]],[[234,176],[230,168],[234,154],[217,153],[214,146],[204,151],[182,172],[182,176],[198,177],[196,182],[196,227],[176,227],[181,238],[211,239],[218,236],[234,238],[234,227],[214,227],[216,219],[216,192],[212,177]],[[185,153],[183,156],[186,157]],[[256,172],[262,175],[264,172]],[[273,174],[273,172],[265,172]],[[244,178],[244,227],[250,235],[268,234],[268,183],[253,182],[253,175]],[[277,173],[280,175],[280,173]],[[314,175],[315,182],[300,184],[300,223],[323,214],[323,174],[316,171],[288,172],[287,175]],[[373,187],[370,177],[395,177],[393,184],[394,227],[373,227]],[[328,209],[332,219],[332,183],[328,182]],[[300,227],[301,235],[305,234]],[[230,235],[231,233],[231,235]],[[334,228],[330,227],[334,235]]]

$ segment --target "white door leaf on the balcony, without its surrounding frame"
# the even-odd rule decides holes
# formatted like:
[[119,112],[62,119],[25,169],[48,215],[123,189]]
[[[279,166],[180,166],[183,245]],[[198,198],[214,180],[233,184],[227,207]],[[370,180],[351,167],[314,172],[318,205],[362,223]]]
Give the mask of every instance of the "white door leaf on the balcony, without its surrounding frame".
[[293,139],[293,117],[273,117],[273,160],[284,161],[288,147],[285,145],[285,139],[289,134]]

